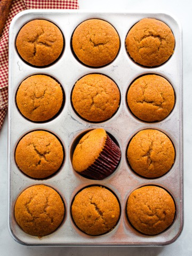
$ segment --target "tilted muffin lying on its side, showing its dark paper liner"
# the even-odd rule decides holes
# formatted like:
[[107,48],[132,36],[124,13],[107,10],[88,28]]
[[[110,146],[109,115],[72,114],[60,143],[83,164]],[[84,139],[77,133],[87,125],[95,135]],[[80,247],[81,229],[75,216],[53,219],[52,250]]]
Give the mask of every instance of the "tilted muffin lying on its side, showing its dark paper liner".
[[104,129],[87,132],[78,142],[72,164],[85,178],[102,180],[112,174],[121,158],[121,150]]

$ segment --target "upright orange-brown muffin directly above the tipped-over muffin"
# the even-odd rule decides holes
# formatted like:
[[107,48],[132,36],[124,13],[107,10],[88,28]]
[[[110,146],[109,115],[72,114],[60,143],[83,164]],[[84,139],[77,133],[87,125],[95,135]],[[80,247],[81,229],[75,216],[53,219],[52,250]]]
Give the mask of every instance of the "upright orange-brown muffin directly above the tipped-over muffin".
[[77,113],[91,122],[109,119],[117,111],[120,93],[107,76],[90,74],[76,82],[72,102]]

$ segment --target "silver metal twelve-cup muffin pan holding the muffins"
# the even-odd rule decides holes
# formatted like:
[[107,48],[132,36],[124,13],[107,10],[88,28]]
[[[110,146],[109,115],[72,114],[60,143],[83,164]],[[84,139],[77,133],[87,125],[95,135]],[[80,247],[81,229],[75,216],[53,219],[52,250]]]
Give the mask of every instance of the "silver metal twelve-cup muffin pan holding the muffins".
[[[82,65],[71,51],[70,41],[74,29],[84,20],[99,18],[108,21],[117,30],[121,46],[116,59],[102,68]],[[129,29],[143,18],[164,21],[173,31],[175,49],[172,57],[159,67],[145,68],[134,63],[125,49],[125,38]],[[61,58],[46,68],[27,65],[15,49],[15,39],[20,28],[30,20],[46,19],[55,23],[65,37],[65,49]],[[106,122],[91,123],[79,117],[71,106],[71,90],[77,79],[90,74],[100,73],[111,77],[121,92],[121,103],[116,114]],[[175,106],[171,114],[161,122],[146,123],[134,117],[126,103],[126,93],[131,82],[142,74],[159,74],[172,84],[175,91]],[[15,93],[23,79],[34,74],[55,77],[65,91],[65,105],[61,113],[50,122],[34,123],[23,117],[15,103]],[[121,162],[116,171],[108,178],[98,181],[89,180],[77,174],[71,165],[71,147],[86,130],[103,127],[113,135],[122,151]],[[175,162],[172,169],[161,178],[146,179],[139,177],[126,161],[127,144],[135,133],[143,129],[163,131],[175,147]],[[60,171],[53,177],[35,180],[27,177],[17,167],[14,159],[15,147],[23,134],[33,130],[51,131],[57,135],[65,149],[65,161]],[[178,22],[170,15],[162,13],[124,13],[124,12],[84,12],[77,10],[27,10],[19,13],[10,26],[9,41],[9,228],[12,237],[25,245],[89,245],[89,246],[158,246],[170,244],[178,238],[183,226],[183,147],[182,147],[182,33]],[[65,202],[65,219],[52,234],[42,238],[24,233],[14,218],[14,204],[21,191],[37,184],[51,186],[59,192]],[[70,214],[71,201],[77,191],[89,185],[106,186],[114,191],[121,203],[121,217],[116,227],[109,233],[90,236],[79,230]],[[171,227],[163,233],[148,236],[140,234],[127,221],[125,208],[130,193],[141,186],[157,185],[165,188],[173,196],[176,214]]]

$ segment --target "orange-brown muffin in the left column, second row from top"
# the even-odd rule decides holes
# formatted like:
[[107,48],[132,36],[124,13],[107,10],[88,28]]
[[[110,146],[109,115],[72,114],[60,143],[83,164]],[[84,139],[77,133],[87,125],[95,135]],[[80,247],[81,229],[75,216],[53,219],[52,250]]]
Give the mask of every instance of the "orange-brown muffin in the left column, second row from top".
[[47,121],[61,109],[63,93],[59,83],[50,76],[34,75],[25,79],[16,95],[17,106],[31,121]]

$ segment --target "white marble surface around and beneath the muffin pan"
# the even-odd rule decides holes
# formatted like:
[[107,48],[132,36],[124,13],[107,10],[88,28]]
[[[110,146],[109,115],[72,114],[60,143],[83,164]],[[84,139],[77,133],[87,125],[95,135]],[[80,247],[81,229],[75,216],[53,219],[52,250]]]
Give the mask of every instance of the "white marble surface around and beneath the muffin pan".
[[127,12],[165,12],[176,17],[183,28],[183,127],[184,127],[184,228],[176,242],[164,247],[30,247],[15,242],[7,229],[7,116],[0,132],[0,255],[1,256],[60,256],[60,255],[192,255],[192,70],[191,10],[190,0],[79,0],[79,7],[86,10]]

